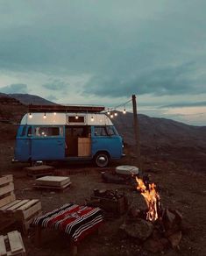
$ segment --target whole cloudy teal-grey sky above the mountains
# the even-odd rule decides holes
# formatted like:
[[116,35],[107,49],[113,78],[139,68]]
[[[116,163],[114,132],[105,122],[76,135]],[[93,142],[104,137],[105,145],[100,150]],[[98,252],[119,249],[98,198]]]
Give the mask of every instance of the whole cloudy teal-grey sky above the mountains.
[[205,10],[205,0],[0,0],[0,91],[106,107],[136,94],[140,113],[206,125]]

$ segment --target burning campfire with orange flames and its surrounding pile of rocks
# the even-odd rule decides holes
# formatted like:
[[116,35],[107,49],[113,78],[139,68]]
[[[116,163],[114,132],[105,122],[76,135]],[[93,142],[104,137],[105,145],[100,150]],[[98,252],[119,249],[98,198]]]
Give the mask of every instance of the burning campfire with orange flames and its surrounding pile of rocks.
[[181,242],[182,217],[178,210],[163,208],[156,185],[144,177],[136,177],[137,190],[146,201],[146,210],[132,208],[121,230],[138,238],[150,252],[162,252],[169,246],[178,248]]

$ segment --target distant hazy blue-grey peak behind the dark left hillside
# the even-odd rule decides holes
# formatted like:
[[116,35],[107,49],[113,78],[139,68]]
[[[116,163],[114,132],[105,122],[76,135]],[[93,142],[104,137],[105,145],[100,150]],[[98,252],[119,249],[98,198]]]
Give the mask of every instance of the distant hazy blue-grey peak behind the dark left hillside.
[[50,102],[40,96],[34,96],[31,94],[9,94],[8,96],[11,96],[15,99],[17,99],[19,102],[25,104],[25,105],[29,105],[29,104],[37,104],[37,105],[53,105],[56,103]]

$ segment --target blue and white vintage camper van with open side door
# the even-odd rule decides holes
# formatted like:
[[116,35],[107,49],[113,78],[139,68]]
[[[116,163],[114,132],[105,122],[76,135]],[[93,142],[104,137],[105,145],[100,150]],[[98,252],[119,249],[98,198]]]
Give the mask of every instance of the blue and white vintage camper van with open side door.
[[123,156],[123,140],[104,113],[30,112],[18,127],[13,162],[94,160]]

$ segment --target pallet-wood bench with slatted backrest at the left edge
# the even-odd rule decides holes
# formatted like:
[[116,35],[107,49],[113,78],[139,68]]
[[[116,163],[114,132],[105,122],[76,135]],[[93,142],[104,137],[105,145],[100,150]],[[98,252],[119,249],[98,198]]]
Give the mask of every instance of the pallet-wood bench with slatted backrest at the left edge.
[[22,224],[22,229],[26,233],[33,218],[41,214],[41,203],[39,199],[17,200],[12,181],[12,175],[0,177],[0,218],[4,222],[9,223],[9,218]]

